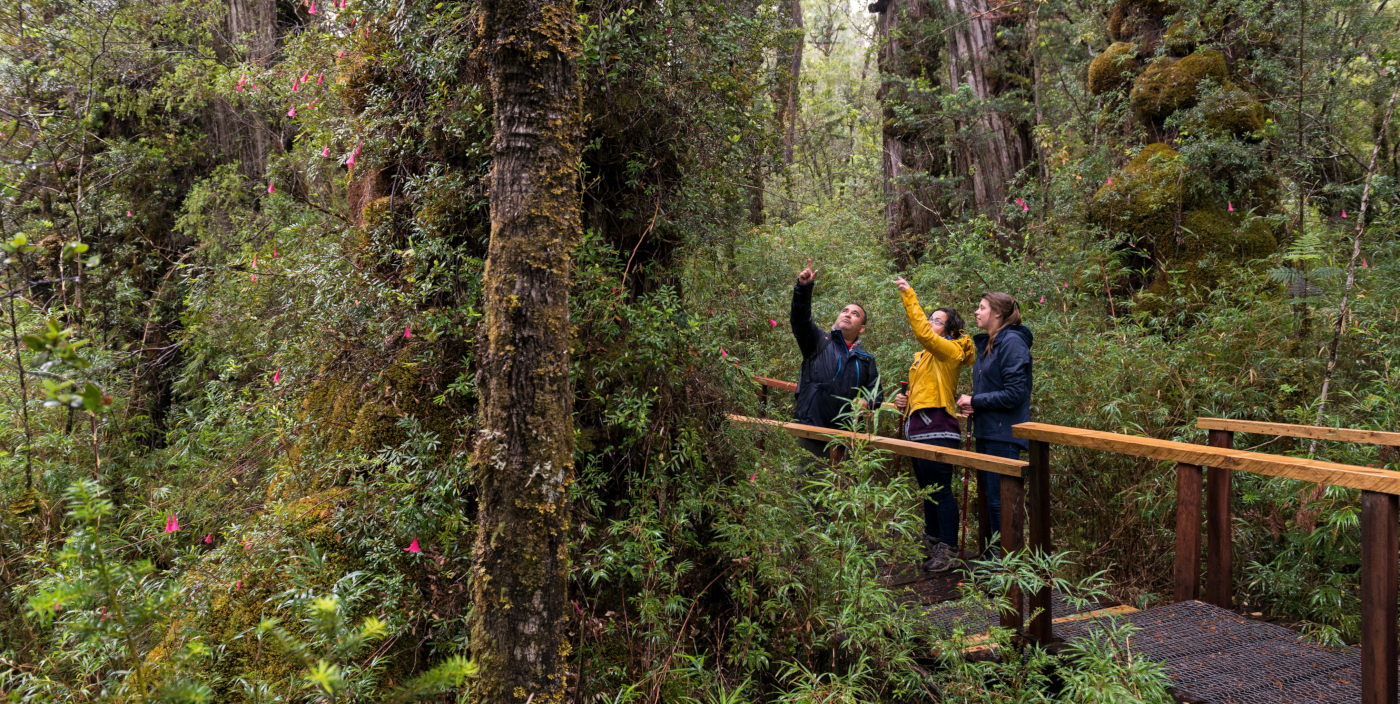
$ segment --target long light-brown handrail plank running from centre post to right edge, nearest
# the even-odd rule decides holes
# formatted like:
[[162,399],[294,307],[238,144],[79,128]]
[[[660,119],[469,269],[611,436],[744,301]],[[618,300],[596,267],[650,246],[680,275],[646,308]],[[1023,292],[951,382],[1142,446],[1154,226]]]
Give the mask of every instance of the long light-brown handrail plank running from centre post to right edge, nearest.
[[1243,449],[1191,445],[1189,442],[1120,435],[1117,432],[1102,432],[1096,430],[1068,428],[1064,425],[1049,425],[1044,423],[1021,423],[1012,427],[1012,434],[1018,438],[1043,439],[1056,445],[1072,445],[1077,448],[1117,452],[1120,455],[1161,459],[1165,462],[1186,462],[1187,465],[1222,467],[1238,472],[1250,472],[1254,474],[1296,479],[1301,481],[1320,481],[1338,487],[1380,491],[1383,494],[1400,494],[1400,472],[1389,472],[1385,469],[1358,467],[1316,459],[1287,458],[1282,455],[1266,455],[1263,452],[1246,452]]

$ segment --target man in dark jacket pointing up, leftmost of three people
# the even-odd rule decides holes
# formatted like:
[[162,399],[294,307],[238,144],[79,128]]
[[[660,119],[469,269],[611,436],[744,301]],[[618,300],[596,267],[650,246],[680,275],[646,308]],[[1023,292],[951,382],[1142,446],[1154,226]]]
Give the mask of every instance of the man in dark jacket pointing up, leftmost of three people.
[[[875,393],[875,403],[883,400],[875,357],[861,347],[865,332],[865,308],[848,304],[836,316],[830,332],[812,321],[812,287],[816,272],[808,259],[806,269],[797,274],[792,287],[792,337],[802,351],[802,372],[797,381],[797,421],[806,425],[837,428],[837,417],[850,407],[850,399],[861,389]],[[826,456],[826,442],[798,438],[798,444],[818,458]]]

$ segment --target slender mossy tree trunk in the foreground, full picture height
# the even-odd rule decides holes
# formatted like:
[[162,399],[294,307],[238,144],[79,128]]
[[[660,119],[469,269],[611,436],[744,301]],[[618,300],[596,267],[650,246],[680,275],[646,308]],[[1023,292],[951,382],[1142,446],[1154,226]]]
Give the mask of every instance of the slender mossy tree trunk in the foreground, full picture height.
[[473,462],[477,703],[559,703],[567,687],[573,393],[568,267],[578,242],[581,101],[573,0],[484,3],[496,99]]

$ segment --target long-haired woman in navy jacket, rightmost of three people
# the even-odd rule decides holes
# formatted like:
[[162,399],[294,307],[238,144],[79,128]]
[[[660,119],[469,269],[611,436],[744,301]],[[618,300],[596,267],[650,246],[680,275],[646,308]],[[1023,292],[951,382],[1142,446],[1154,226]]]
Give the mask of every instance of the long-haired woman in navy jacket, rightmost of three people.
[[[977,304],[977,328],[987,330],[972,339],[977,361],[972,365],[972,395],[958,399],[958,409],[973,420],[977,452],[1021,459],[1025,439],[1011,435],[1011,427],[1030,420],[1030,330],[1021,325],[1021,308],[1009,294],[983,294]],[[993,530],[1001,529],[1001,474],[983,472]]]

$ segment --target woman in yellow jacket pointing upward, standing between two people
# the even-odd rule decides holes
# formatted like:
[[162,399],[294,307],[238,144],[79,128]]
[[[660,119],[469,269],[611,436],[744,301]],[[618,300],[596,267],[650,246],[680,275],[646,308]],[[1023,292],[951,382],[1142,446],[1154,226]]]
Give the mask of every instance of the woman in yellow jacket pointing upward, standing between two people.
[[[958,372],[973,362],[972,337],[963,332],[963,319],[952,308],[939,308],[924,316],[918,297],[909,281],[897,279],[899,297],[904,304],[909,326],[923,347],[914,354],[909,368],[909,393],[895,397],[895,406],[904,411],[904,439],[956,448],[962,439],[958,425]],[[934,487],[924,498],[924,543],[928,560],[924,570],[945,572],[952,568],[958,544],[958,502],[953,500],[953,467],[944,462],[910,458],[918,487]]]

